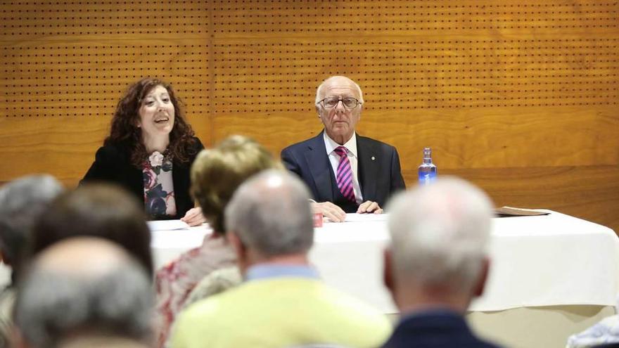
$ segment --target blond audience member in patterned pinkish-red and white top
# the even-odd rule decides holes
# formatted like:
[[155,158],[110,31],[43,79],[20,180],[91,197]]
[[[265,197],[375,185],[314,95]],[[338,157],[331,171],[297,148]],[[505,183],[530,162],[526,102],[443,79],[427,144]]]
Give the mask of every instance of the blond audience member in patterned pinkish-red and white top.
[[224,209],[243,181],[272,168],[283,170],[267,149],[245,136],[230,136],[196,157],[191,168],[191,194],[202,207],[212,233],[205,236],[203,245],[184,252],[157,272],[159,346],[166,342],[174,318],[189,297],[193,302],[240,283],[238,270],[230,269],[236,265],[236,256],[225,238]]

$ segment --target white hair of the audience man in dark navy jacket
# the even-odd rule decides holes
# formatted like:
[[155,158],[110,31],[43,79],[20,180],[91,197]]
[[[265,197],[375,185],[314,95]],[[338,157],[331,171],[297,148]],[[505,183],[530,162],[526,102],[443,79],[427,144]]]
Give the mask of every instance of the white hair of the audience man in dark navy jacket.
[[492,203],[464,180],[442,177],[388,207],[393,271],[421,286],[471,290],[487,255]]

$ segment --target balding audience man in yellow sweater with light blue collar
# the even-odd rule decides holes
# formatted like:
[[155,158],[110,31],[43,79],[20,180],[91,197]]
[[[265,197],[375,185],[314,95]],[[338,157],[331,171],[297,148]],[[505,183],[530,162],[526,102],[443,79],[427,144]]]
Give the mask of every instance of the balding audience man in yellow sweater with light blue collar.
[[377,347],[388,319],[319,280],[309,192],[296,176],[269,170],[241,185],[226,207],[226,233],[245,282],[183,311],[173,348]]

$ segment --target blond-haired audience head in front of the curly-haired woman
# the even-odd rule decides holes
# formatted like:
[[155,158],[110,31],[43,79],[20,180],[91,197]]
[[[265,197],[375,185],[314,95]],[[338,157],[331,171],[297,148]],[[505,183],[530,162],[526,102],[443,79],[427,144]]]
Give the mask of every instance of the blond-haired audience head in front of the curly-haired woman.
[[245,136],[230,136],[198,154],[191,167],[191,194],[215,232],[225,232],[224,209],[236,188],[272,168],[283,169],[266,148]]

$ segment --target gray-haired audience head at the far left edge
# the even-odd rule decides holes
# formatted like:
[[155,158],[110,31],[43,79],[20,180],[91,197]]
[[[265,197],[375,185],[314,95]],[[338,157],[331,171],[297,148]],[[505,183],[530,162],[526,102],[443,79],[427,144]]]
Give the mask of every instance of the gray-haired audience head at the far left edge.
[[50,175],[24,176],[0,188],[0,252],[13,276],[20,273],[34,222],[63,190]]

